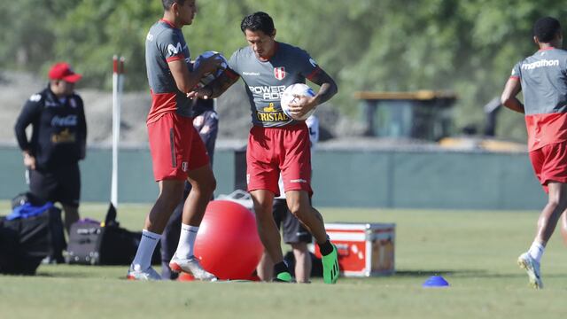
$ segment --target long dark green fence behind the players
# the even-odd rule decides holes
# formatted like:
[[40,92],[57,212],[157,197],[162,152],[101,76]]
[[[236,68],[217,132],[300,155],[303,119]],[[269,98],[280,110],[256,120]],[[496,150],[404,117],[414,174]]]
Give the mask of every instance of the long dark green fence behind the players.
[[[218,149],[214,160],[216,194],[233,191],[242,153]],[[19,150],[0,147],[0,163],[0,198],[25,191]],[[316,206],[540,209],[546,200],[525,153],[323,149],[313,166]],[[111,151],[90,148],[81,170],[82,200],[108,201]],[[120,150],[118,189],[119,202],[155,200],[147,149]]]

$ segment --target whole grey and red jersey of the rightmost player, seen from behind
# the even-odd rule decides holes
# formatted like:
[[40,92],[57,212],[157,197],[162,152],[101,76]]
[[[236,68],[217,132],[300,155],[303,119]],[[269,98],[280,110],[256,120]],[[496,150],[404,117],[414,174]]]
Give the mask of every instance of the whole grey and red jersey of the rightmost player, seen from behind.
[[537,51],[518,62],[510,77],[522,85],[528,149],[567,141],[567,51]]

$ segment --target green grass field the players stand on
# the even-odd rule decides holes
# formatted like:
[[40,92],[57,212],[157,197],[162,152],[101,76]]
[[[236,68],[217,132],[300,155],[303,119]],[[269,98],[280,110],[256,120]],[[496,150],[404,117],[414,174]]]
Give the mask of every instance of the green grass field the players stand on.
[[[7,212],[8,203],[0,204]],[[106,204],[84,204],[102,219]],[[140,229],[149,206],[122,205]],[[336,285],[129,282],[126,267],[40,266],[37,276],[0,276],[0,318],[559,318],[567,253],[557,232],[543,258],[546,288],[516,265],[538,212],[321,208],[326,222],[395,222],[396,275],[341,278]],[[448,288],[422,288],[432,275]]]

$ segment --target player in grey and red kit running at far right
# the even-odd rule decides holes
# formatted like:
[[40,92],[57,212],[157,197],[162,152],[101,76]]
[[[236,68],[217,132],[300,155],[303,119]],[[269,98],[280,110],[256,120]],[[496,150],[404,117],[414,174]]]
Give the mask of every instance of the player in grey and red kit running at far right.
[[[561,25],[551,17],[535,22],[533,41],[540,50],[514,66],[501,102],[525,114],[532,166],[548,193],[532,246],[517,261],[527,271],[532,287],[540,289],[541,255],[560,216],[567,217],[567,51],[560,49]],[[520,90],[524,104],[516,97]]]

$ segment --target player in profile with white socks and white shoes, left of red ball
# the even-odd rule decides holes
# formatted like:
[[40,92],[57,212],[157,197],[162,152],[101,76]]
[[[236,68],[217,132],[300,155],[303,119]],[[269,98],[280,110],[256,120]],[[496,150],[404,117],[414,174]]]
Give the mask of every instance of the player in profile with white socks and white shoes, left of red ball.
[[[183,198],[185,180],[192,191],[183,206],[179,245],[169,263],[175,272],[188,272],[200,280],[215,280],[193,256],[193,245],[206,205],[216,185],[206,148],[195,128],[188,93],[203,77],[216,71],[221,60],[215,56],[192,70],[190,51],[181,28],[190,25],[197,12],[195,0],[162,0],[163,19],[146,37],[145,58],[151,89],[147,126],[153,175],[159,183],[159,197],[145,219],[136,257],[128,279],[160,280],[151,268],[151,255],[169,216]],[[192,70],[192,71],[190,71]]]

